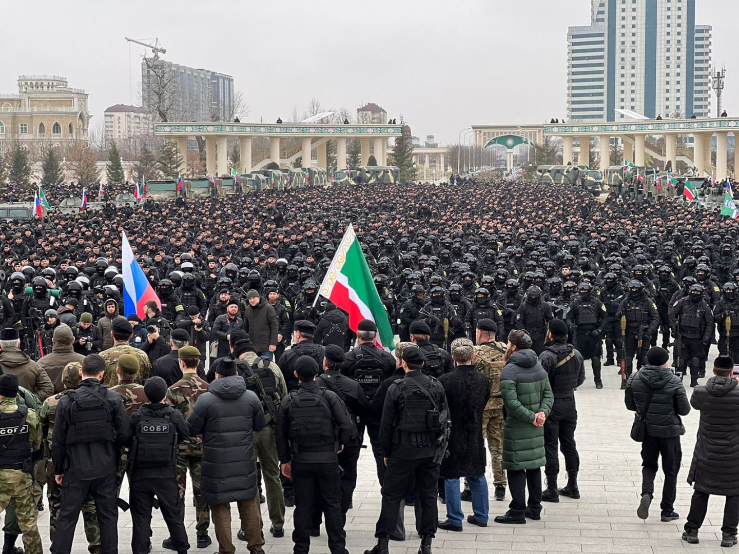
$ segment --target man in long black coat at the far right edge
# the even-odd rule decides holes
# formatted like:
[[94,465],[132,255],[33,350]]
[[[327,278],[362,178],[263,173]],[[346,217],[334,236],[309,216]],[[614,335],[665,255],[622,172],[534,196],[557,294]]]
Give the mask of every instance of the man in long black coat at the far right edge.
[[721,546],[737,544],[739,522],[739,474],[727,471],[726,465],[739,458],[739,386],[732,377],[734,360],[719,356],[713,362],[713,375],[705,386],[697,386],[690,405],[701,411],[698,439],[695,441],[688,482],[693,485],[690,513],[685,523],[683,540],[698,543],[698,530],[708,509],[709,496],[726,496],[721,524]]

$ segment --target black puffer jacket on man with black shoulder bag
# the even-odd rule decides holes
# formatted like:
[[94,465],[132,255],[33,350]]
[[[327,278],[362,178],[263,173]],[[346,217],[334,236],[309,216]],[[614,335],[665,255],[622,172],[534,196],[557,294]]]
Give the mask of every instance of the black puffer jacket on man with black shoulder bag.
[[652,437],[685,434],[680,416],[689,414],[690,404],[680,377],[666,367],[643,366],[626,383],[626,407],[641,414],[651,390],[654,395],[647,412],[647,434]]

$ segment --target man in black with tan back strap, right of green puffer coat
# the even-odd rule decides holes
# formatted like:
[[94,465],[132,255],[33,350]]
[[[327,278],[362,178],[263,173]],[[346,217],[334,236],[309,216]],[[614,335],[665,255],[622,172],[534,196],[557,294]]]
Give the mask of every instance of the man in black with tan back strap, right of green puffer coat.
[[[583,312],[586,310],[588,308],[585,308]],[[561,319],[551,320],[547,332],[547,343],[544,352],[539,356],[542,367],[549,376],[549,384],[554,394],[554,404],[544,423],[544,448],[547,459],[544,469],[547,476],[547,488],[542,493],[544,502],[559,502],[560,494],[573,499],[580,497],[577,487],[580,456],[575,444],[577,426],[575,389],[585,383],[585,364],[580,352],[568,344],[567,338],[567,324]],[[567,486],[559,490],[556,486],[559,475],[558,445],[562,450],[562,455],[565,456],[565,470],[568,477]]]

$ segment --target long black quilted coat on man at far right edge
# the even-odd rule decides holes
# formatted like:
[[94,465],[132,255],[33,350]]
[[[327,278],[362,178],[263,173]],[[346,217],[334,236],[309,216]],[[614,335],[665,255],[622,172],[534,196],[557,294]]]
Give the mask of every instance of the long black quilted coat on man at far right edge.
[[688,482],[702,493],[739,494],[739,386],[733,377],[711,377],[697,386],[690,404],[701,411]]

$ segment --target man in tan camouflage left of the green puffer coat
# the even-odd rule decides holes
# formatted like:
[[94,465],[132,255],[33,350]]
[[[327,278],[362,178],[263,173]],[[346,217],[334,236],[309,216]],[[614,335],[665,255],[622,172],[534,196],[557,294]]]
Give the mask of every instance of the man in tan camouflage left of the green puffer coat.
[[483,434],[488,438],[488,449],[493,462],[493,483],[496,500],[505,499],[505,471],[503,470],[503,398],[500,397],[500,370],[505,366],[505,343],[495,340],[497,325],[491,319],[477,322],[474,363],[477,371],[490,379],[490,399],[483,410]]

